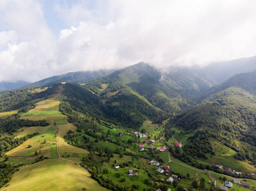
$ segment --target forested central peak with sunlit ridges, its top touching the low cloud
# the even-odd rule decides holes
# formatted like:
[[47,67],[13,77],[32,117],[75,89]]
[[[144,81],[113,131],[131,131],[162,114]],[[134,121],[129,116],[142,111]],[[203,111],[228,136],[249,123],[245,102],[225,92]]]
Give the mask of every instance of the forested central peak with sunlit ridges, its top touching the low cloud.
[[[195,74],[190,76],[161,72],[142,62],[89,81],[86,87],[99,95],[104,103],[112,102],[111,97],[118,97],[125,92],[140,97],[162,111],[174,114],[190,108],[193,104],[190,103],[190,98],[195,94],[202,94],[212,86],[212,80],[203,80],[195,77]],[[204,85],[201,85],[202,81]],[[185,94],[187,88],[191,91]]]

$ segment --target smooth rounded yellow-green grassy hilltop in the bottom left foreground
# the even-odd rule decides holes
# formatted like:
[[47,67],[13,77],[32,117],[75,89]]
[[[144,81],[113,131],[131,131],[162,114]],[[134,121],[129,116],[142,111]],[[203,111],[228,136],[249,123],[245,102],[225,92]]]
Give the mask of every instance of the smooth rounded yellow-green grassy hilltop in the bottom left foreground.
[[107,190],[84,169],[62,159],[47,159],[24,166],[13,174],[8,187],[0,190]]

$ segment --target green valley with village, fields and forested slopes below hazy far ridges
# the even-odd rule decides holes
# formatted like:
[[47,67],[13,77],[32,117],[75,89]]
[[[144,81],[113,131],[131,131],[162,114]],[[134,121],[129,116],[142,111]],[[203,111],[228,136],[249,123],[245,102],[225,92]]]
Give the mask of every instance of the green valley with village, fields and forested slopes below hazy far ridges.
[[0,190],[250,190],[234,178],[256,188],[254,83],[185,90],[183,76],[159,78],[140,63],[2,93],[1,164],[17,172]]

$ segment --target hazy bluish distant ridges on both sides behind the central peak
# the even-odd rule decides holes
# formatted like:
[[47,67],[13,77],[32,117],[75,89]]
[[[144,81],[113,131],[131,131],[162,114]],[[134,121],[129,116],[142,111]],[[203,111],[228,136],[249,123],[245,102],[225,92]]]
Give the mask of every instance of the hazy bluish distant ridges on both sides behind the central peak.
[[[166,75],[171,74],[170,78],[176,78],[179,74],[187,73],[189,78],[197,78],[197,76],[204,76],[208,78],[207,81],[210,86],[220,84],[230,77],[239,73],[246,73],[256,70],[256,57],[248,57],[243,59],[229,60],[225,62],[213,62],[205,67],[192,66],[192,67],[169,67],[163,71]],[[78,71],[66,73],[61,75],[45,78],[40,81],[29,83],[27,81],[17,82],[0,82],[0,92],[5,90],[13,90],[15,88],[33,88],[41,87],[43,85],[50,85],[57,81],[86,83],[90,80],[95,80],[107,74],[114,72],[114,70],[100,70],[100,71]],[[188,78],[188,80],[190,80]],[[201,87],[202,88],[202,87]],[[205,87],[207,88],[207,87]]]

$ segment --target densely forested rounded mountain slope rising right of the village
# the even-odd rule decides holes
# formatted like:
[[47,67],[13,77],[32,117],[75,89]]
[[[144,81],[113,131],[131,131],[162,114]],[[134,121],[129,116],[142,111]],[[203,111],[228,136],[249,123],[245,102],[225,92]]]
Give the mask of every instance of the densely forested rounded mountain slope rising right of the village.
[[[183,148],[188,155],[213,163],[227,164],[231,160],[231,167],[235,164],[232,158],[255,164],[255,78],[256,73],[237,74],[209,90],[202,103],[170,120],[170,129],[181,128],[184,134],[194,132]],[[230,148],[232,158],[230,154],[214,156],[216,144]]]

